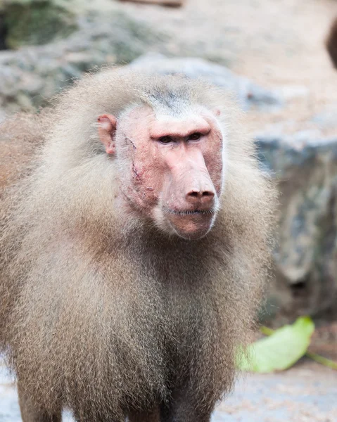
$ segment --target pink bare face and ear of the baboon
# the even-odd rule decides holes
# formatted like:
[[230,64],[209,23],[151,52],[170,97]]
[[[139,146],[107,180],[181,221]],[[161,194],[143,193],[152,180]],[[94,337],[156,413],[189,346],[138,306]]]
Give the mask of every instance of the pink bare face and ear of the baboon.
[[121,194],[130,209],[168,234],[197,239],[210,231],[222,188],[222,132],[207,110],[174,118],[134,108],[119,122],[98,117],[115,154]]

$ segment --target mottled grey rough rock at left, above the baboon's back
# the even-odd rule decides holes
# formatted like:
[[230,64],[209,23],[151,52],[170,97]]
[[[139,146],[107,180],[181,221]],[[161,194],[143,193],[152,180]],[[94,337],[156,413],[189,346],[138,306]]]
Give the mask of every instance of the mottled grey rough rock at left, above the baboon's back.
[[82,72],[128,63],[163,42],[163,34],[120,11],[82,16],[67,39],[0,52],[0,109],[30,110],[56,96]]

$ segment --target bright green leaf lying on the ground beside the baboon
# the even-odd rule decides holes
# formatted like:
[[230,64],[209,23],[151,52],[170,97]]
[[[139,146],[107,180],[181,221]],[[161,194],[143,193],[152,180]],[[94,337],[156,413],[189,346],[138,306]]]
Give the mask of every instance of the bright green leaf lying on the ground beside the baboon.
[[238,366],[243,371],[268,373],[288,369],[303,357],[314,332],[309,316],[298,318],[293,325],[279,328],[267,338],[250,345],[247,356],[239,354]]

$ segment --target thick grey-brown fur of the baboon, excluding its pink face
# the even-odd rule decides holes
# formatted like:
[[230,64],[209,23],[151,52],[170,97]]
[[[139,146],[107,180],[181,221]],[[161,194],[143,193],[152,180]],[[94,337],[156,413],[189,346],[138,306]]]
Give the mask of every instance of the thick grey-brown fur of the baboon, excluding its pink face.
[[[155,108],[170,93],[222,112],[221,210],[198,241],[119,212],[123,165],[96,134],[98,115]],[[184,387],[191,409],[207,414],[231,390],[267,276],[274,206],[238,119],[226,94],[204,82],[116,70],[85,77],[37,119],[49,128],[44,147],[4,204],[0,342],[39,407],[124,421]],[[34,139],[35,130],[23,132]],[[15,142],[18,128],[6,133]]]

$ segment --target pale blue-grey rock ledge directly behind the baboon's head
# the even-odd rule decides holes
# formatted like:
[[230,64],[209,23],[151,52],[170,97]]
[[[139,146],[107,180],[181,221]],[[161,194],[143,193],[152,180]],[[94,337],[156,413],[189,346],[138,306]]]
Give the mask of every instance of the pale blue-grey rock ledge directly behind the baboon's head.
[[193,79],[203,77],[219,87],[234,92],[245,110],[252,106],[272,110],[283,103],[282,97],[276,92],[264,89],[246,77],[235,75],[225,66],[202,58],[166,58],[161,54],[150,53],[134,60],[130,68],[163,75],[182,73]]

